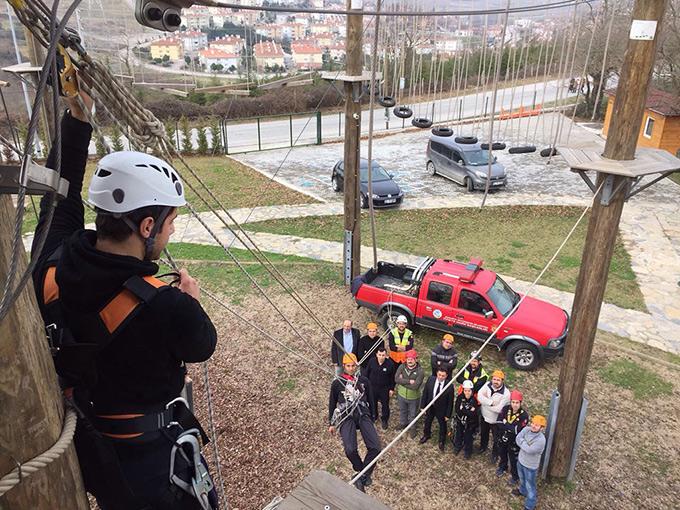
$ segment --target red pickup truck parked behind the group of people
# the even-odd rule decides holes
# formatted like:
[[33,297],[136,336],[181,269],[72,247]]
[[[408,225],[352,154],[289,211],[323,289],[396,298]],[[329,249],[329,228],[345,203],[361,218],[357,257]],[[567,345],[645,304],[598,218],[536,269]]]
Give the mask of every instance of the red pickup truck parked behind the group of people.
[[482,261],[468,264],[427,258],[417,267],[379,262],[352,282],[357,305],[373,310],[385,328],[398,315],[419,325],[484,341],[492,331],[510,366],[533,370],[542,360],[562,354],[569,314],[555,305],[527,297],[502,328],[521,295]]

